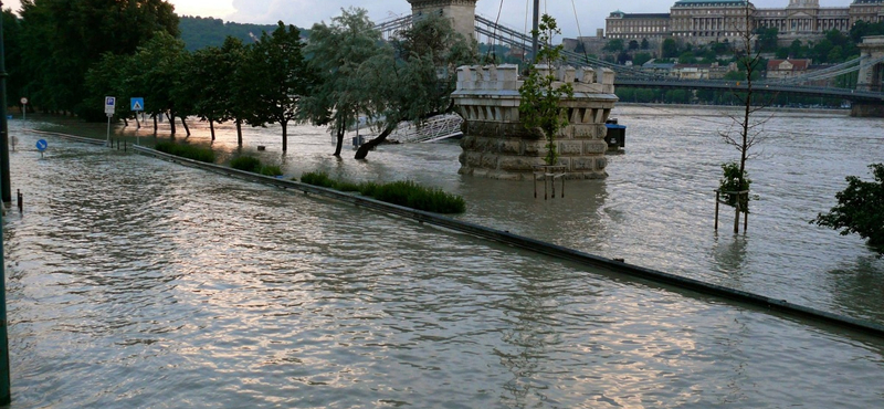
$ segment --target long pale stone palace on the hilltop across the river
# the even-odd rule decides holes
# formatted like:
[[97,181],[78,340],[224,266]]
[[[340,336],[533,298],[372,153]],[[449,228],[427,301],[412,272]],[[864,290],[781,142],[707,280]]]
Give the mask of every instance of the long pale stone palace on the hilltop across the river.
[[[783,0],[785,1],[785,0]],[[669,13],[614,11],[606,19],[609,39],[680,38],[705,44],[733,41],[745,32],[747,6],[757,27],[777,28],[781,39],[813,38],[830,30],[850,31],[860,20],[884,21],[884,0],[854,0],[850,7],[820,7],[819,0],[788,0],[783,9],[757,9],[745,0],[678,0]]]

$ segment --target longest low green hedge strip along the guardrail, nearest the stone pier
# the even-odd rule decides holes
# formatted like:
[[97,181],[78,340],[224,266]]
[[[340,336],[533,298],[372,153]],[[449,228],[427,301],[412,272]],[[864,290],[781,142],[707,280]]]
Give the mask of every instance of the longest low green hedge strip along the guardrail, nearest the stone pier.
[[358,191],[362,196],[380,201],[435,213],[463,213],[466,211],[466,202],[462,197],[446,193],[441,189],[423,187],[411,180],[391,183],[354,183],[334,180],[324,172],[307,172],[302,175],[301,181],[335,190]]

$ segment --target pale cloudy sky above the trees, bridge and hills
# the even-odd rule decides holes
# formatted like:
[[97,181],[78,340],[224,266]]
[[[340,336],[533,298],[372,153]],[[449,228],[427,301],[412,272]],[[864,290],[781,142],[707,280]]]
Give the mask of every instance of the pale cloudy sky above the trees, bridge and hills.
[[[36,0],[40,1],[40,0]],[[846,7],[852,0],[820,0],[822,7]],[[171,0],[175,10],[181,15],[202,15],[224,19],[242,23],[273,24],[282,20],[287,24],[309,28],[319,21],[328,22],[340,14],[341,8],[358,6],[368,10],[371,20],[382,21],[392,17],[404,15],[410,11],[407,0]],[[526,6],[530,0],[503,0],[499,21],[518,31],[526,25]],[[627,13],[667,13],[675,0],[541,0],[541,12],[547,12],[562,28],[565,36],[575,38],[579,31],[582,35],[594,35],[596,29],[604,28],[604,18],[612,11]],[[789,0],[755,0],[759,8],[785,8]],[[320,6],[322,4],[322,6]],[[497,19],[501,0],[478,0],[476,12],[491,20]],[[18,10],[18,0],[3,1],[4,8]],[[543,9],[546,8],[544,11]],[[575,8],[577,17],[575,17]],[[530,25],[530,22],[527,23]]]

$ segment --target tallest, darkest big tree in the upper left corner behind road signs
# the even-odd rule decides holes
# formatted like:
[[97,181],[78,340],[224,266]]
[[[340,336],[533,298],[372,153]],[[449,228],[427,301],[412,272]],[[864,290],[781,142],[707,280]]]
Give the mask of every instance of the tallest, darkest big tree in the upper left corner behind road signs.
[[33,99],[53,111],[104,117],[85,104],[85,75],[105,53],[133,54],[157,32],[178,34],[178,17],[162,0],[24,0],[22,66]]

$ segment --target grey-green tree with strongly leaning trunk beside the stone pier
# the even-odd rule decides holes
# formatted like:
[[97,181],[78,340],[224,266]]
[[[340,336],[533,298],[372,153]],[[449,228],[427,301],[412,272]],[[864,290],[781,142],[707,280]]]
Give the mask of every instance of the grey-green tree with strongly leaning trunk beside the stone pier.
[[357,149],[356,159],[383,143],[400,122],[420,126],[422,120],[453,112],[456,67],[477,61],[475,41],[457,33],[441,15],[424,15],[399,32],[391,46],[360,66],[359,86],[370,96],[366,113],[380,134]]

